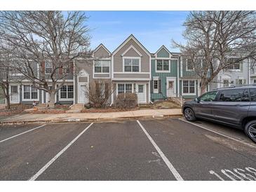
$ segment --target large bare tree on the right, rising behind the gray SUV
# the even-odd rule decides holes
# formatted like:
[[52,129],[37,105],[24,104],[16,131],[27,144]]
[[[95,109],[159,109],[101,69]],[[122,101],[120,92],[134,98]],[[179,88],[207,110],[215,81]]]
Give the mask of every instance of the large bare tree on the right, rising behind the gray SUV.
[[184,27],[187,43],[173,45],[191,60],[202,93],[222,69],[256,55],[255,11],[193,11]]

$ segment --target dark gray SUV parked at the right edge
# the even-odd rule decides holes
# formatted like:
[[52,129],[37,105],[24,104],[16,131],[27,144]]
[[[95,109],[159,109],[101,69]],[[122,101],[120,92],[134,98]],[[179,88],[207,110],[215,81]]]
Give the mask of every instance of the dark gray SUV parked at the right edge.
[[256,143],[256,85],[215,89],[185,102],[182,113],[187,121],[202,118],[244,130]]

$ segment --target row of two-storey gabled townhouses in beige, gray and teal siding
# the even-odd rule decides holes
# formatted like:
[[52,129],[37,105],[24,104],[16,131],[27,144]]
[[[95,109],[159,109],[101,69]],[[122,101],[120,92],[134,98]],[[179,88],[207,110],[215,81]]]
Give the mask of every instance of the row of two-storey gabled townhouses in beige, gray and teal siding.
[[[50,62],[33,65],[36,76],[50,78]],[[39,67],[43,67],[40,70]],[[234,64],[223,70],[208,85],[207,90],[228,85],[256,83],[256,67],[250,66],[250,60]],[[156,53],[149,53],[133,34],[110,52],[103,44],[93,51],[88,59],[77,58],[67,69],[58,75],[75,71],[67,76],[65,84],[55,95],[60,104],[86,104],[90,102],[85,92],[93,81],[104,81],[105,91],[111,91],[109,105],[114,104],[116,96],[122,92],[135,92],[139,104],[149,104],[168,97],[183,97],[191,100],[201,95],[201,80],[196,75],[191,61],[181,53],[171,53],[161,46]],[[15,81],[21,79],[22,81]],[[61,84],[58,83],[57,86]],[[11,103],[32,104],[36,101],[47,103],[49,95],[34,88],[22,74],[15,74],[10,85]],[[106,93],[107,94],[107,93]]]

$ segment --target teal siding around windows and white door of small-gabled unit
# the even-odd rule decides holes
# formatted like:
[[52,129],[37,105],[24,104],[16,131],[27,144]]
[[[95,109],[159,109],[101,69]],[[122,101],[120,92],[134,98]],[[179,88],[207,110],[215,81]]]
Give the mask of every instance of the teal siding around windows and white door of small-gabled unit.
[[[160,51],[159,51],[160,52]],[[156,60],[151,60],[151,77],[159,76],[161,79],[161,93],[153,93],[151,90],[151,100],[163,100],[166,98],[166,77],[176,77],[176,94],[177,94],[177,60],[170,60],[170,73],[156,73]],[[151,82],[152,83],[152,82]],[[153,87],[153,86],[151,86]]]

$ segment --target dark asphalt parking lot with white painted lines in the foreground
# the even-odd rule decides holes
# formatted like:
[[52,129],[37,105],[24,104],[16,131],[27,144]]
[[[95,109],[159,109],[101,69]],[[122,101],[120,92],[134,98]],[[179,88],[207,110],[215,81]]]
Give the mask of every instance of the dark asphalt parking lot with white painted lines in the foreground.
[[0,180],[256,180],[256,144],[183,118],[12,125],[0,165]]

